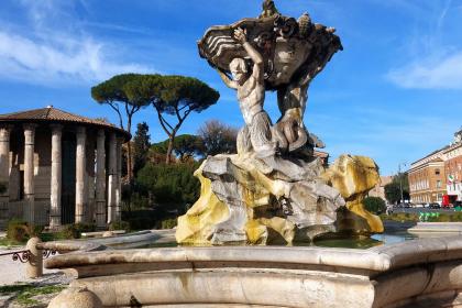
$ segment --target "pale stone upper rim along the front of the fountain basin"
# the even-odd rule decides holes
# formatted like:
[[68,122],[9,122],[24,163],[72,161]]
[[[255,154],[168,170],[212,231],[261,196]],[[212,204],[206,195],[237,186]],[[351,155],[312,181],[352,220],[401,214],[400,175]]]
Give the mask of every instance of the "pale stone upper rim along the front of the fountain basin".
[[157,248],[110,251],[76,251],[45,262],[46,268],[133,263],[258,263],[320,265],[386,272],[413,264],[458,260],[462,256],[462,237],[421,239],[367,250],[338,248],[209,246]]

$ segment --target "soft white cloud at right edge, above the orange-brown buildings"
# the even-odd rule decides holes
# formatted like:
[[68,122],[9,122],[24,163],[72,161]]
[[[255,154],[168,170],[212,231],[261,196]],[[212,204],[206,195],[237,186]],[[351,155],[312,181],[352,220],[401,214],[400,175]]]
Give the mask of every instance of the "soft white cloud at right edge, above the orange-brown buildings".
[[392,69],[386,77],[403,88],[462,89],[462,51],[438,58],[419,59]]

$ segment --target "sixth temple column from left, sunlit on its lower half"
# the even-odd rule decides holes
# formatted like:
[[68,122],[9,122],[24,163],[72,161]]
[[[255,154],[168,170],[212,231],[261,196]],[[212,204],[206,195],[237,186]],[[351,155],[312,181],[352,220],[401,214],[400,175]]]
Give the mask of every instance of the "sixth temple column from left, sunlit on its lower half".
[[109,135],[109,167],[108,167],[108,223],[116,221],[117,210],[117,138],[116,133]]

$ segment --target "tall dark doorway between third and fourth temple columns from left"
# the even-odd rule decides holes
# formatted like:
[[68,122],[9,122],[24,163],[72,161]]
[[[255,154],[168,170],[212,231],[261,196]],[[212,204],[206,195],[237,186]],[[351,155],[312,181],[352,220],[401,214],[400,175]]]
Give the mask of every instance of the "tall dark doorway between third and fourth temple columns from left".
[[63,174],[61,196],[61,222],[69,224],[75,222],[76,213],[76,148],[75,134],[63,134]]

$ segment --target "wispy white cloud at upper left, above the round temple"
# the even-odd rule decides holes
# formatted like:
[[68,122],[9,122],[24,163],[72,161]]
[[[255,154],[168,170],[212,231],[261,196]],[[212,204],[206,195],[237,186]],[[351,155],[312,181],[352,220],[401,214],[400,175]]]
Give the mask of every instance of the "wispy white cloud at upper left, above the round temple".
[[91,38],[36,42],[0,32],[0,77],[33,84],[94,82],[128,73],[146,72],[136,64],[109,58],[105,45]]

